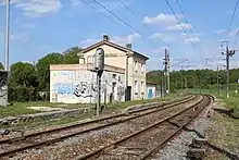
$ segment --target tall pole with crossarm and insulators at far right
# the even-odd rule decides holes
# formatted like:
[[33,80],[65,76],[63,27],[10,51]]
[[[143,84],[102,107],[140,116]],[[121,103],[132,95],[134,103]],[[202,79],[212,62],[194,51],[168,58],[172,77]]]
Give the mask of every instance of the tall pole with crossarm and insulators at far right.
[[223,44],[226,44],[226,53],[222,52],[223,56],[226,56],[226,75],[227,75],[227,88],[226,88],[226,93],[227,93],[227,98],[229,98],[229,70],[230,70],[230,64],[229,64],[229,59],[230,57],[232,57],[235,54],[236,50],[229,50],[228,47],[228,41],[221,41],[221,47],[223,47]]

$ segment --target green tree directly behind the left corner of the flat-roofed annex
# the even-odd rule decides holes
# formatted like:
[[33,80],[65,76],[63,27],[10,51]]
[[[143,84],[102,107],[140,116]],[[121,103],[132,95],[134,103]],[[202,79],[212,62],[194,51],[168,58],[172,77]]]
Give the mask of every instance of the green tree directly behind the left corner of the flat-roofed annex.
[[50,90],[50,64],[61,64],[64,56],[61,53],[49,53],[38,60],[36,64],[37,81],[39,83],[38,89],[41,91]]

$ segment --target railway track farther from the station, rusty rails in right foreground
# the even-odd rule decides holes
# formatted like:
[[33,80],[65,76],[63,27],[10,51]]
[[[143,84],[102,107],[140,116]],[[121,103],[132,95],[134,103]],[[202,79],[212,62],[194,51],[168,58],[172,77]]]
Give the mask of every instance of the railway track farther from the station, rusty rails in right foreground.
[[205,107],[212,102],[212,97],[203,96],[200,101],[189,108],[186,108],[177,113],[173,113],[169,116],[151,124],[150,126],[143,127],[136,133],[76,159],[150,159],[153,157],[155,151],[158,151],[163,145],[187,126]]

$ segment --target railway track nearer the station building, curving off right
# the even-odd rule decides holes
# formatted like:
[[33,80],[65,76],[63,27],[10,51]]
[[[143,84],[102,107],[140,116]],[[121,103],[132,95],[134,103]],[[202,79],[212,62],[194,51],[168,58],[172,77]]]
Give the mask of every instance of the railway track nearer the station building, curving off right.
[[[88,121],[80,124],[54,128],[40,133],[25,135],[23,137],[11,138],[0,141],[1,150],[0,157],[11,156],[13,153],[23,151],[29,148],[36,148],[43,145],[49,145],[75,135],[84,134],[93,130],[104,128],[114,124],[123,123],[143,115],[152,114],[154,112],[163,111],[175,106],[197,99],[198,96],[190,96],[174,103],[164,103],[161,106],[152,106],[141,110],[130,111],[129,114],[116,114],[99,120]],[[74,128],[74,131],[73,131]],[[77,130],[76,130],[77,128]]]

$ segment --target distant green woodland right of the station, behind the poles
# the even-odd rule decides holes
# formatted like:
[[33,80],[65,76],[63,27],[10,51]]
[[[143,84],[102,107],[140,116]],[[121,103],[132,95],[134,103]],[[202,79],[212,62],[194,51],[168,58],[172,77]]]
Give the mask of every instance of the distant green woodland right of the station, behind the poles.
[[[229,72],[230,83],[238,83],[239,69],[232,69]],[[151,71],[147,73],[147,81],[162,85],[165,82],[163,71]],[[185,88],[211,88],[219,84],[222,87],[226,85],[226,71],[213,70],[181,70],[169,73],[171,90]]]

